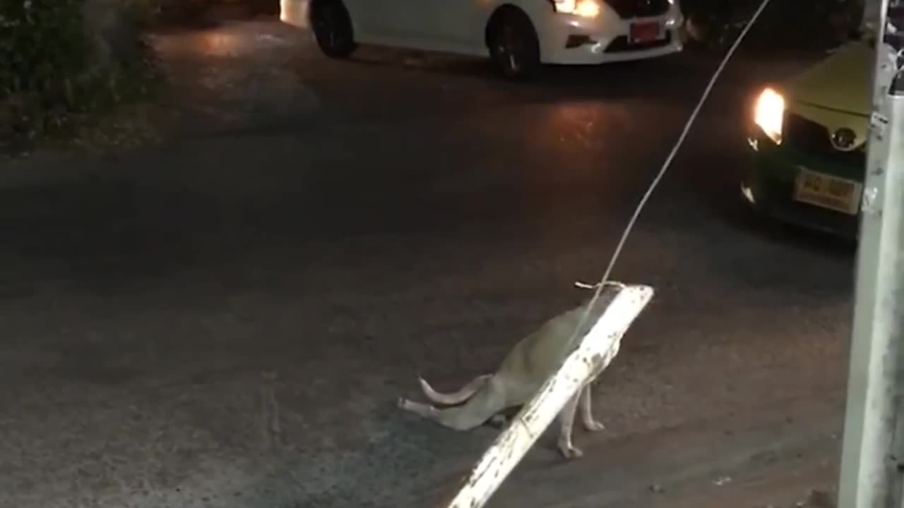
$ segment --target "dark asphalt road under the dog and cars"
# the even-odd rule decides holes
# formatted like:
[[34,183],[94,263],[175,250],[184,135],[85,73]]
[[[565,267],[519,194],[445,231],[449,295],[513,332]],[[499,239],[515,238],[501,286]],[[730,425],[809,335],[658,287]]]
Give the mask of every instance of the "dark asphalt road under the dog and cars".
[[[325,61],[266,22],[155,44],[177,141],[0,170],[4,507],[435,501],[496,430],[394,400],[493,370],[586,296],[716,63],[511,84],[480,61]],[[541,439],[497,506],[835,432],[852,250],[739,206],[742,101],[795,69],[743,58],[617,264],[657,293],[595,391],[607,430],[568,465]]]

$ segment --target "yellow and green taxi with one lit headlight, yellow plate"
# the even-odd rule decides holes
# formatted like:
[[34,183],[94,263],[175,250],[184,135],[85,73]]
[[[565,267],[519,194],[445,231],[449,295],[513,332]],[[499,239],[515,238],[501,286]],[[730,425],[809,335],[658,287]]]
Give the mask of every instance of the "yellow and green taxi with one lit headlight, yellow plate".
[[849,239],[860,226],[874,46],[848,42],[754,101],[741,193],[779,221]]

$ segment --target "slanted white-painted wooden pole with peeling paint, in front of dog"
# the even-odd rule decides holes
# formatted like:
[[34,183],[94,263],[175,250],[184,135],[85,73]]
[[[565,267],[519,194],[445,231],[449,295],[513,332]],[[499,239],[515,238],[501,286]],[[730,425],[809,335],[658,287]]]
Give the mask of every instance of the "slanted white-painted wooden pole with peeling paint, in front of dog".
[[626,286],[618,293],[559,372],[543,383],[486,450],[456,497],[446,504],[448,508],[481,508],[489,501],[591,373],[602,371],[612,362],[622,336],[652,297],[653,288],[648,286]]

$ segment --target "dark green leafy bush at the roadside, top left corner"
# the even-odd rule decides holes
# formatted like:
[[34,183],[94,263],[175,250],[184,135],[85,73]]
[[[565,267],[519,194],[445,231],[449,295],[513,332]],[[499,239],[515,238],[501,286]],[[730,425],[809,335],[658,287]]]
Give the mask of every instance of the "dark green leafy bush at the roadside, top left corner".
[[[0,54],[8,55],[0,59],[0,141],[72,127],[148,91],[153,65],[140,28],[151,7],[147,0],[116,6],[117,24],[101,34],[86,19],[86,0],[0,2]],[[133,58],[99,58],[99,37],[110,33],[110,47]]]

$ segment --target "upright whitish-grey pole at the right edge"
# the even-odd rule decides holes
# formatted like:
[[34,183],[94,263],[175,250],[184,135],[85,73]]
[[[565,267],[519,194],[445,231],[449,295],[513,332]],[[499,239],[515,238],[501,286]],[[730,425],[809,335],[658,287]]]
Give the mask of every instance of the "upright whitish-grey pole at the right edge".
[[[899,0],[868,2],[877,29],[862,196],[839,508],[898,508],[904,419],[904,89],[891,86],[904,50]],[[902,5],[904,6],[904,5]],[[900,7],[899,7],[900,8]],[[898,11],[900,13],[900,11]],[[887,22],[893,22],[888,24]],[[896,436],[897,434],[897,436]]]

